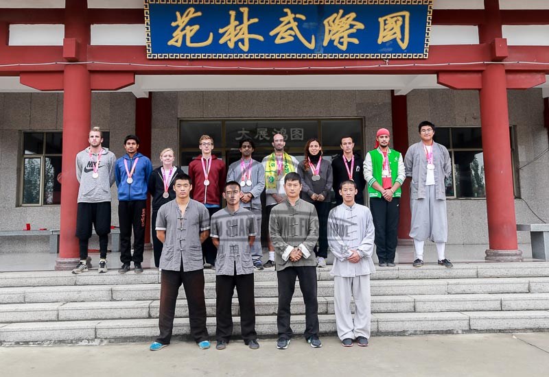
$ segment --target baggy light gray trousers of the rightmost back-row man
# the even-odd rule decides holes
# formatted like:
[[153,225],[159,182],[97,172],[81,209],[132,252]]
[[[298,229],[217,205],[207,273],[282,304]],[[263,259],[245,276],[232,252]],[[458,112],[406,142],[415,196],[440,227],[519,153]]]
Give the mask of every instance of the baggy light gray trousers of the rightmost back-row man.
[[448,240],[448,218],[446,201],[436,199],[435,185],[425,186],[425,198],[410,199],[412,223],[410,237],[418,241],[429,239],[433,242]]

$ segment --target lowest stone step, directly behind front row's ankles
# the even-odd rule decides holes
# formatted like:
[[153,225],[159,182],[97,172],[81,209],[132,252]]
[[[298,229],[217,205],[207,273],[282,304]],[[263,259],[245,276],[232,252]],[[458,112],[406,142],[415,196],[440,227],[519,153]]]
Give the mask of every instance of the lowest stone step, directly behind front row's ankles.
[[[318,315],[321,335],[334,335],[334,315]],[[260,338],[277,333],[275,316],[259,316],[256,330]],[[215,318],[207,319],[210,338],[215,334]],[[372,335],[411,335],[432,333],[513,332],[546,330],[549,311],[476,311],[444,313],[375,313]],[[297,337],[305,329],[305,316],[292,316]],[[189,321],[176,318],[174,335],[188,339]],[[233,335],[240,335],[240,318],[234,318]],[[102,343],[104,341],[152,341],[158,336],[157,319],[102,319],[91,321],[49,321],[0,324],[0,343]],[[299,341],[297,339],[296,341]],[[274,347],[274,341],[272,341]]]

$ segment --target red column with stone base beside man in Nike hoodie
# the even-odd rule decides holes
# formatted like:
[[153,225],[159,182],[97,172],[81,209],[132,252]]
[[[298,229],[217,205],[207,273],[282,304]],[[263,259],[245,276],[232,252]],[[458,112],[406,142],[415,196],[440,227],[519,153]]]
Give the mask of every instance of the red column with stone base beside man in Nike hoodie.
[[90,75],[86,66],[67,66],[64,86],[61,234],[56,269],[72,269],[79,259],[78,239],[74,235],[79,187],[75,175],[75,156],[85,146],[91,124]]

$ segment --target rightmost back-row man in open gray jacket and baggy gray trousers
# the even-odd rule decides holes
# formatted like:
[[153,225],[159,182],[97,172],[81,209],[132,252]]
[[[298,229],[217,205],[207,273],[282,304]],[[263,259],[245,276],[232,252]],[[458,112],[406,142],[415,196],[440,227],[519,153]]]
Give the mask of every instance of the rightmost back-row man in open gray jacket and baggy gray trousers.
[[411,145],[404,158],[406,176],[412,178],[410,237],[414,239],[413,265],[423,266],[423,247],[425,240],[429,239],[436,245],[439,265],[452,268],[452,263],[444,255],[448,239],[445,178],[452,173],[450,156],[444,145],[433,141],[433,123],[423,121],[418,130],[421,141]]

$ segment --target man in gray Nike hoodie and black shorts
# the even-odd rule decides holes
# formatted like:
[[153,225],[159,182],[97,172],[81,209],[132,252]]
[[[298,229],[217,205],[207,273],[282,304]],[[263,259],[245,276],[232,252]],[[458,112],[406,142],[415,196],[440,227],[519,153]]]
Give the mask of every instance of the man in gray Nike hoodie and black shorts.
[[102,147],[103,134],[99,127],[89,133],[90,146],[76,155],[76,178],[78,189],[78,212],[76,215],[76,236],[80,240],[80,262],[73,273],[88,271],[88,242],[91,226],[99,236],[99,272],[107,271],[107,245],[110,233],[110,186],[115,183],[116,156]]

